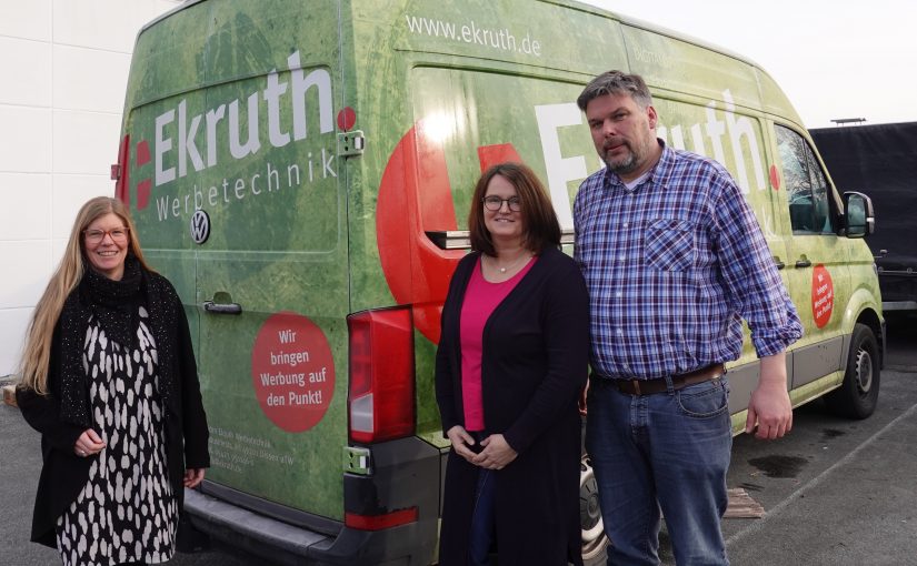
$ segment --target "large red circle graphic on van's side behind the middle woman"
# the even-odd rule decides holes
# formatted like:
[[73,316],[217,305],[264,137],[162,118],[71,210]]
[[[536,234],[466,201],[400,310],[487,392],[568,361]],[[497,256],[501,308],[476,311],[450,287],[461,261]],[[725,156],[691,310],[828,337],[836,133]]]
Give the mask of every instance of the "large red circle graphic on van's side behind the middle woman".
[[[481,171],[506,161],[521,162],[511,144],[478,149]],[[441,250],[427,232],[457,230],[446,154],[422,120],[391,152],[376,205],[376,241],[389,290],[410,304],[413,324],[439,343],[439,319],[449,280],[464,250]]]

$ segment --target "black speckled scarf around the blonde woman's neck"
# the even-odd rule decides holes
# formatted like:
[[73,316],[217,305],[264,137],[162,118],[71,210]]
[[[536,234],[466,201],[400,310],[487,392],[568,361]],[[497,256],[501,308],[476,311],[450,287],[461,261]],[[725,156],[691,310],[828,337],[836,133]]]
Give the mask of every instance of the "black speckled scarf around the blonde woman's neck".
[[[133,351],[137,343],[139,310],[149,313],[149,326],[158,350],[159,390],[166,406],[172,388],[172,356],[177,322],[176,305],[166,296],[165,280],[144,270],[136,257],[124,261],[124,274],[113,281],[87,267],[77,289],[63,303],[58,321],[60,331],[60,417],[62,421],[91,426],[88,364],[84,361],[86,333],[90,320],[113,342]],[[52,368],[53,371],[53,368]]]

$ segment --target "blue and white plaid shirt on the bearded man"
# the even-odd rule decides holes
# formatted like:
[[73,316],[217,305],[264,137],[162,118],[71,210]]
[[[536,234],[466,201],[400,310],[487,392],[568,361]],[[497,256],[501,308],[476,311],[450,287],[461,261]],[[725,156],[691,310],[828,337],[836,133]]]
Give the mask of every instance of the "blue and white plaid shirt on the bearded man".
[[740,319],[758,356],[803,335],[760,226],[715,161],[664,144],[634,190],[602,169],[580,185],[574,223],[599,374],[656,378],[736,360]]

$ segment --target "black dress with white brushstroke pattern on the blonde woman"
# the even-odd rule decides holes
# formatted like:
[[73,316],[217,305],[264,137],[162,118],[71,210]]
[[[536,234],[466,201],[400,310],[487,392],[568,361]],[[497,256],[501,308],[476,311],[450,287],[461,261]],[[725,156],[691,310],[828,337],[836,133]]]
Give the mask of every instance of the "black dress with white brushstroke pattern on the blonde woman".
[[178,501],[166,461],[156,341],[140,306],[133,351],[91,319],[83,344],[96,431],[106,447],[57,523],[64,566],[157,564],[175,553]]

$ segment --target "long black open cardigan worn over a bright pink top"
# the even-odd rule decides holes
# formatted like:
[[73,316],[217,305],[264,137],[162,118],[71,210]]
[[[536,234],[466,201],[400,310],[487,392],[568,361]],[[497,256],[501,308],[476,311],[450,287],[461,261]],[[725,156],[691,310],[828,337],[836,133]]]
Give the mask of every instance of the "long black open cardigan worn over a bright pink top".
[[[464,257],[442,311],[436,394],[446,433],[464,426],[459,319],[479,254]],[[495,472],[500,566],[581,564],[580,417],[589,358],[589,300],[574,261],[547,249],[484,330],[481,397],[487,429],[519,454]],[[440,565],[468,563],[478,468],[450,451]]]

